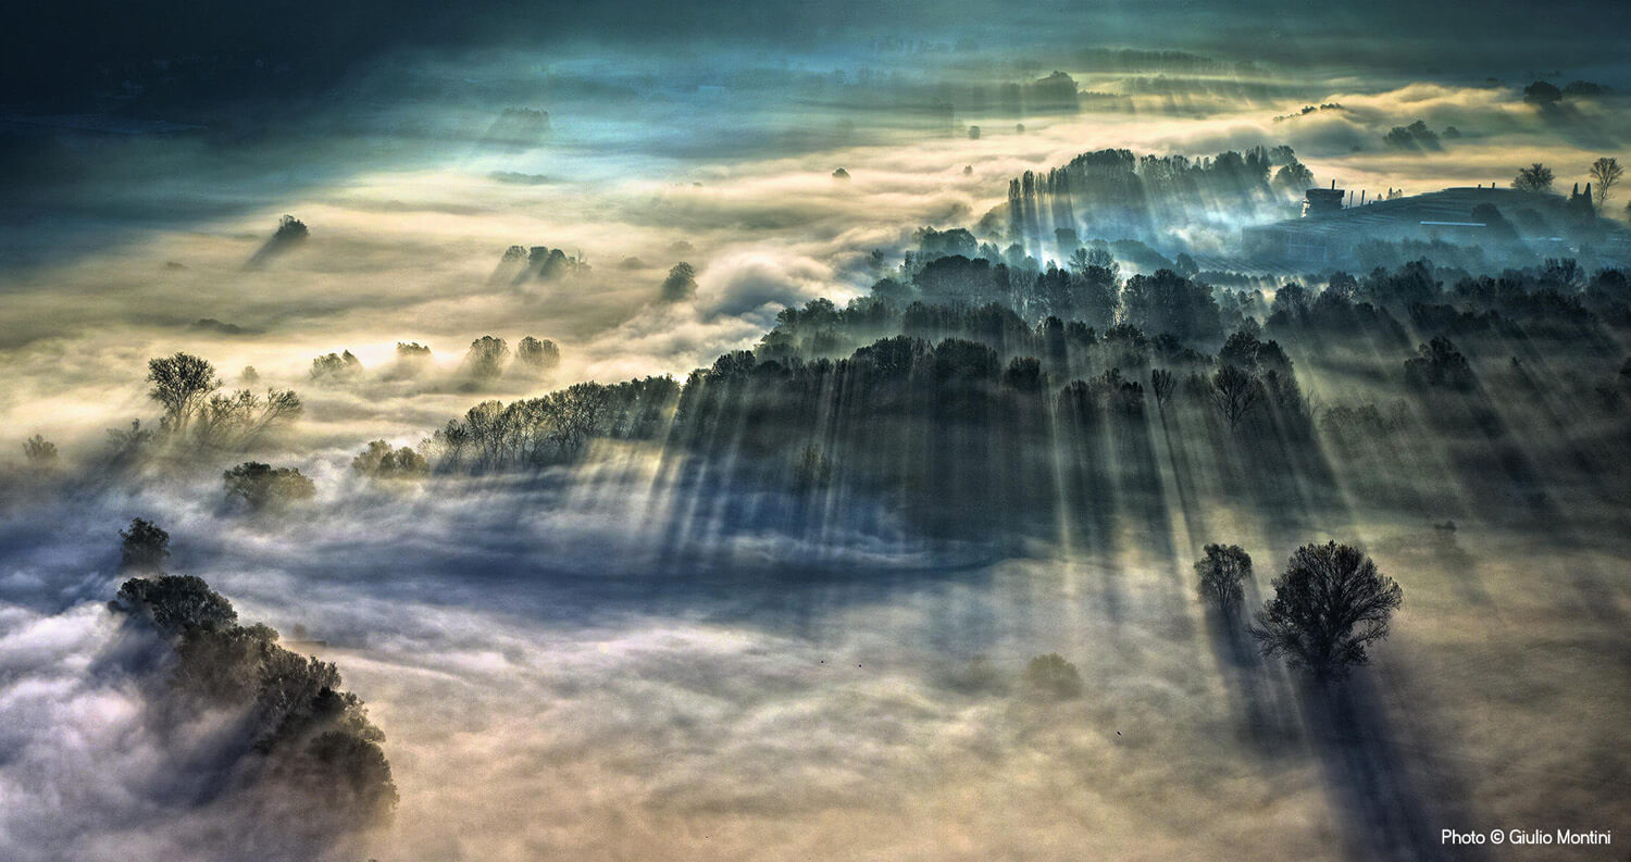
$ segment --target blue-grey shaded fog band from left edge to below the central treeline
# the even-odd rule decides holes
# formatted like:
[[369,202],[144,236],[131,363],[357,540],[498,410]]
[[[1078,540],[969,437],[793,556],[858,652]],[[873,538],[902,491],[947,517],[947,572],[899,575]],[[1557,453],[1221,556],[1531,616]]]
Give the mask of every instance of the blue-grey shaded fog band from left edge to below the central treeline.
[[[62,494],[0,521],[0,556],[28,574],[0,578],[0,601],[41,613],[108,601],[122,580],[117,530],[132,515],[171,530],[166,570],[202,575],[250,606],[312,601],[352,614],[346,606],[362,598],[564,626],[652,614],[799,632],[830,609],[928,585],[983,585],[1003,557],[972,541],[904,538],[879,526],[889,513],[876,500],[850,500],[842,523],[812,543],[786,530],[801,505],[789,494],[698,479],[672,495],[700,499],[695,508],[675,502],[674,512],[643,517],[626,499],[638,490],[626,479],[605,486],[599,499],[572,499],[569,479],[541,474],[261,520]],[[246,541],[246,531],[256,539]],[[310,598],[294,598],[290,588]],[[365,613],[356,611],[356,621]]]

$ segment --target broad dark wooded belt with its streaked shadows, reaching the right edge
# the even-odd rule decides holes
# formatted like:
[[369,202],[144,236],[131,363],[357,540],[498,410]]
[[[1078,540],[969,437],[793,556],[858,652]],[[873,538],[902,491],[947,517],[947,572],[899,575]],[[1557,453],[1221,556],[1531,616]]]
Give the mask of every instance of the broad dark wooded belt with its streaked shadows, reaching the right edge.
[[[793,492],[775,504],[789,520],[861,494],[930,533],[1068,525],[1090,544],[1116,541],[1117,512],[1163,531],[1174,497],[1225,495],[1292,526],[1354,502],[1533,517],[1553,512],[1553,486],[1618,494],[1618,270],[1474,277],[1417,261],[1264,303],[1174,270],[1122,280],[1086,249],[1078,264],[923,251],[843,308],[785,310],[754,350],[683,385],[489,401],[426,453],[486,471],[569,463],[597,437],[652,440],[692,456],[675,481],[698,494]],[[1427,489],[1432,474],[1447,481]]]

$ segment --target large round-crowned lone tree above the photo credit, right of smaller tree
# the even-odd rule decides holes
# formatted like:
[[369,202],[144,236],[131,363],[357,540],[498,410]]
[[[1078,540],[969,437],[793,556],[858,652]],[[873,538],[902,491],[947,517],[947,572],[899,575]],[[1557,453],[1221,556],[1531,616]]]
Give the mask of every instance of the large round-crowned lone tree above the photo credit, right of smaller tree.
[[1251,634],[1264,655],[1285,657],[1316,679],[1342,678],[1370,658],[1367,647],[1388,636],[1403,601],[1399,585],[1357,549],[1334,541],[1305,544],[1274,578],[1274,598]]

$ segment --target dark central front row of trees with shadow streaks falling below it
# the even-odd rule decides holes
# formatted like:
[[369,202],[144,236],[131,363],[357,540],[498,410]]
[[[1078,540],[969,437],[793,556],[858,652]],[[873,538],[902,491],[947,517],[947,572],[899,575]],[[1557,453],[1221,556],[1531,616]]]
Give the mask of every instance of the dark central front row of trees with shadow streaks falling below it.
[[713,471],[739,471],[740,482],[791,477],[817,486],[806,490],[842,482],[884,495],[931,533],[979,523],[992,534],[1052,534],[1065,518],[1083,541],[1106,544],[1117,508],[1150,526],[1166,518],[1163,429],[1210,460],[1313,440],[1290,360],[1249,332],[1231,337],[1230,360],[1213,368],[1192,350],[1161,355],[1135,328],[1067,334],[1057,319],[1037,331],[1008,319],[998,347],[975,341],[1003,334],[982,319],[964,318],[974,337],[902,334],[838,360],[721,357],[687,380],[670,445]]

